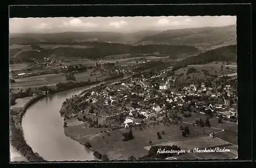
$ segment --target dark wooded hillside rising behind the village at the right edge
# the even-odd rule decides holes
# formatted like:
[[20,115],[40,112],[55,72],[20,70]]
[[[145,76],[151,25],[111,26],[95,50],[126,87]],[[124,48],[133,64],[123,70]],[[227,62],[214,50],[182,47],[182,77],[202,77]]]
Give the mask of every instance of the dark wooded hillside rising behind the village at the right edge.
[[206,51],[197,56],[187,57],[173,66],[173,71],[194,64],[207,64],[213,61],[234,61],[237,58],[237,45],[223,46],[218,49]]

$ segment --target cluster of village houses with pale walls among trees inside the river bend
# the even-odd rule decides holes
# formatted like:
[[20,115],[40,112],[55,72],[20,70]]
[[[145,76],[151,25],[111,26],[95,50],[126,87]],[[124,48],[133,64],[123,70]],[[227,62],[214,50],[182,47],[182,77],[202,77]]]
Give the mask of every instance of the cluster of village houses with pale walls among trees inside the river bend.
[[174,111],[180,111],[183,117],[189,117],[193,112],[200,112],[209,117],[220,117],[230,122],[237,121],[236,86],[227,84],[220,91],[221,86],[206,87],[202,83],[175,89],[179,87],[175,84],[178,77],[164,79],[161,75],[154,75],[148,79],[131,78],[130,81],[85,94],[86,100],[80,104],[88,102],[91,106],[84,108],[83,111],[74,110],[79,112],[73,112],[72,116],[81,116],[82,113],[116,116],[123,113],[127,115],[122,123],[124,127],[139,125],[147,118],[164,116],[165,113],[172,115]]

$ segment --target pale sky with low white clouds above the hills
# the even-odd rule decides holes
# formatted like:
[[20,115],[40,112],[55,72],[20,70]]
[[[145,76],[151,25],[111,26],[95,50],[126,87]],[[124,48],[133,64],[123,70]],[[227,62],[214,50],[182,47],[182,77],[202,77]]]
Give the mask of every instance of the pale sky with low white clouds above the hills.
[[10,18],[10,33],[136,32],[236,25],[236,16]]

